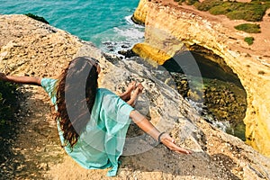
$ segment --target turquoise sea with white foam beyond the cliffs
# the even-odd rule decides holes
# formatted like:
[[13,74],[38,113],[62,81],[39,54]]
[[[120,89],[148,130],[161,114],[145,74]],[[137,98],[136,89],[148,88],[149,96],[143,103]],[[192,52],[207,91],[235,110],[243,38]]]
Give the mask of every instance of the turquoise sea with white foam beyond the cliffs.
[[50,25],[117,53],[142,41],[144,27],[130,17],[139,0],[1,0],[0,14],[36,14]]

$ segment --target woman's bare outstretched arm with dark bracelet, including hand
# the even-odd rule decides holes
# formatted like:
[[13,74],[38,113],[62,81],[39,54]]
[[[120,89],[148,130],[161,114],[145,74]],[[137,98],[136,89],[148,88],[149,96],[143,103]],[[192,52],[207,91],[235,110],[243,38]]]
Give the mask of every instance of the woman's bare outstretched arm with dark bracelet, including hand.
[[162,144],[164,144],[167,148],[174,150],[177,153],[184,153],[184,154],[191,154],[192,152],[190,150],[178,147],[175,145],[175,139],[170,137],[167,133],[160,132],[155,128],[155,126],[148,121],[143,115],[141,115],[137,111],[130,112],[130,118],[132,121],[134,121],[141,130],[144,130],[148,133],[152,138],[156,139],[157,141],[160,140]]

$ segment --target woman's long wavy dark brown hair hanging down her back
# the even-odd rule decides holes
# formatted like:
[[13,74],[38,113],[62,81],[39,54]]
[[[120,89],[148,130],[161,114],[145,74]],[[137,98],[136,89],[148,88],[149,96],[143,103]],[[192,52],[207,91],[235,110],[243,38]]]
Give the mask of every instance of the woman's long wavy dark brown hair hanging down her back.
[[60,128],[71,148],[90,121],[97,89],[97,61],[94,58],[73,59],[58,80],[57,115]]

